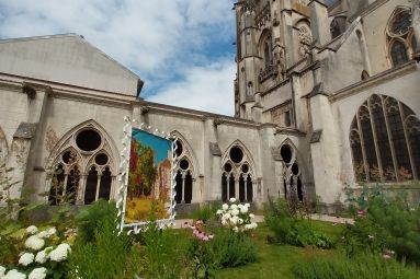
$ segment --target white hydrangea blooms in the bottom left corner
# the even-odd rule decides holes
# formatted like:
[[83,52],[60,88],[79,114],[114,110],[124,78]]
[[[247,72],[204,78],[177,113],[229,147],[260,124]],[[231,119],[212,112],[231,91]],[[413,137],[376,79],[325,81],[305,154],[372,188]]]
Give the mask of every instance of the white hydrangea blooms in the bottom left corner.
[[[47,275],[53,275],[54,278],[64,278],[65,265],[69,253],[70,245],[61,243],[55,228],[47,228],[39,231],[35,225],[31,225],[18,233],[18,246],[22,251],[15,260],[18,261],[19,270],[0,266],[0,278],[9,279],[44,279]],[[13,264],[10,265],[14,267]]]

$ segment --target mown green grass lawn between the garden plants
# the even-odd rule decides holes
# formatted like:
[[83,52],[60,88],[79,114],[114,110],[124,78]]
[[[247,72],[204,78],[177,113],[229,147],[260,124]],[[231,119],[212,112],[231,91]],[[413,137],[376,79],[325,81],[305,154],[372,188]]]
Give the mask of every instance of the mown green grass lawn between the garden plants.
[[[313,221],[314,226],[328,234],[333,240],[338,237],[342,224],[336,224]],[[256,230],[256,243],[258,248],[258,263],[250,264],[243,267],[225,268],[217,271],[216,278],[294,278],[291,268],[294,264],[306,260],[308,257],[317,256],[333,256],[334,252],[322,251],[318,248],[295,247],[290,245],[273,245],[266,243],[266,235],[270,234],[268,226],[264,223],[259,224]]]

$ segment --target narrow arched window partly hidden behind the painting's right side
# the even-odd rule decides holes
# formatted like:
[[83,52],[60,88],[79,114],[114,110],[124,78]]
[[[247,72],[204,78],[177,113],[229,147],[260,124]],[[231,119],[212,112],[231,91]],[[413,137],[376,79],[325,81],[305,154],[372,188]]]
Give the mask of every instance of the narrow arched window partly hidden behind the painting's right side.
[[175,154],[179,160],[175,168],[175,201],[177,204],[191,204],[193,199],[193,166],[190,151],[180,139],[175,143]]

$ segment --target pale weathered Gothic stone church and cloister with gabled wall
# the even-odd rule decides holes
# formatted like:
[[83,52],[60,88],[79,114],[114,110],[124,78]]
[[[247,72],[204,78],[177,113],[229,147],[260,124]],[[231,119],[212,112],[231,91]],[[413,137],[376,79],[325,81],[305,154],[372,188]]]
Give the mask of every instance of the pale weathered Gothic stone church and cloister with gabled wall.
[[75,34],[0,40],[0,160],[11,178],[53,205],[53,194],[115,198],[124,116],[178,137],[180,208],[231,196],[332,205],[361,181],[419,178],[418,0],[234,10],[234,117],[141,100],[138,75]]

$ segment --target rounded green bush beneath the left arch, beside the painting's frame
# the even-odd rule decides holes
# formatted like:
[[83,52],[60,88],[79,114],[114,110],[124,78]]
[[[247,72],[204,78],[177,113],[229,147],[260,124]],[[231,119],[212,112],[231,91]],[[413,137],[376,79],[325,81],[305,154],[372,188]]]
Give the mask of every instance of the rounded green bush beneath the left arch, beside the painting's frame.
[[101,228],[102,222],[114,221],[116,213],[115,204],[103,199],[81,209],[76,217],[78,223],[77,241],[81,243],[93,242],[97,229]]

